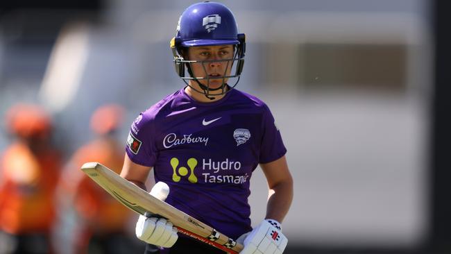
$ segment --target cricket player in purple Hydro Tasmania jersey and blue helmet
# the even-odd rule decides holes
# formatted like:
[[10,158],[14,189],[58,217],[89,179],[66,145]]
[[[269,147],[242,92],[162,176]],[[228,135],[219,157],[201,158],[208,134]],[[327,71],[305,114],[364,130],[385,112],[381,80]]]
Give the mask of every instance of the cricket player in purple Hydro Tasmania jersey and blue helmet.
[[[268,106],[234,88],[246,51],[234,15],[221,3],[189,6],[171,49],[186,86],[135,119],[121,176],[146,189],[153,169],[155,182],[169,185],[167,203],[238,239],[241,253],[282,253],[281,223],[293,198],[287,149]],[[258,165],[269,199],[266,217],[252,228],[249,184]],[[140,217],[136,235],[149,244],[146,253],[223,253],[178,235],[165,219]]]

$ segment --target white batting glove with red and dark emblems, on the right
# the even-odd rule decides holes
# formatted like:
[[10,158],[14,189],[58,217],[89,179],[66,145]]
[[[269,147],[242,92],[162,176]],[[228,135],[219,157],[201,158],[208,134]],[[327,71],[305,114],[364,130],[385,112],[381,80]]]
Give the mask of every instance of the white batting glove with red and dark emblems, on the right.
[[252,231],[241,235],[237,242],[244,244],[240,254],[251,253],[283,253],[287,247],[288,239],[282,234],[280,223],[273,219],[265,219]]

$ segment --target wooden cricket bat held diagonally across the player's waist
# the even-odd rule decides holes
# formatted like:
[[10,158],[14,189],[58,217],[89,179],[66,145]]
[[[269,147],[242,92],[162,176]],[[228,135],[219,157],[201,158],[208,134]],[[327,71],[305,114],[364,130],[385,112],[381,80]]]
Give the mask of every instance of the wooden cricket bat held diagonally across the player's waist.
[[163,217],[173,223],[178,232],[226,253],[239,253],[243,246],[207,224],[189,216],[172,205],[160,201],[99,162],[87,162],[81,170],[122,205],[145,216]]

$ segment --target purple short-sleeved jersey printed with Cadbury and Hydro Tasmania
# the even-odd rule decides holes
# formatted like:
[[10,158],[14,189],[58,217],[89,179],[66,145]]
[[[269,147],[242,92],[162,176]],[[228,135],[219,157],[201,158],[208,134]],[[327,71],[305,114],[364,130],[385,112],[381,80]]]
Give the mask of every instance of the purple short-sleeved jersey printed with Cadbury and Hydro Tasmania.
[[126,152],[170,188],[166,202],[237,239],[250,231],[249,180],[287,151],[269,108],[231,90],[201,103],[179,90],[133,122]]

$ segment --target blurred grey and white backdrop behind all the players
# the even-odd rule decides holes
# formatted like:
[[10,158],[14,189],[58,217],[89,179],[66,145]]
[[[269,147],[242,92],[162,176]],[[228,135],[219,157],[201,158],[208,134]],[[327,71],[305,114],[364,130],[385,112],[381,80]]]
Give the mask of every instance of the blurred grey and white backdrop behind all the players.
[[[64,169],[96,137],[90,118],[101,105],[124,108],[114,134],[125,144],[139,112],[184,85],[169,40],[195,2],[2,1],[0,115],[42,106]],[[287,253],[451,253],[450,18],[439,1],[219,2],[246,33],[237,88],[269,105],[288,149]],[[12,137],[3,119],[1,128],[4,151]],[[251,188],[255,226],[267,196],[259,170]],[[62,246],[74,218],[60,215],[60,253],[71,253]]]

